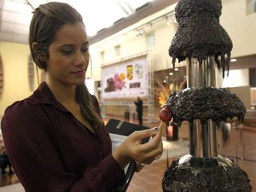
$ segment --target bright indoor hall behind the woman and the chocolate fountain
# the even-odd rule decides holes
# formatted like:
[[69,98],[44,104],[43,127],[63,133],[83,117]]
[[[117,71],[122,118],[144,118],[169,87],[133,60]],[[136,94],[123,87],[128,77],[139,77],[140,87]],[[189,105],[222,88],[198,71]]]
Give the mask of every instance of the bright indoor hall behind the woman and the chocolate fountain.
[[[27,44],[31,19],[27,16],[32,16],[27,13],[32,13],[42,2],[44,1],[0,1],[0,117],[11,103],[30,96],[38,88],[38,84],[45,80],[44,73],[39,70],[37,74]],[[79,1],[61,2],[75,4]],[[177,32],[174,9],[178,1],[104,1],[108,3],[101,4],[103,9],[90,3],[89,9],[93,11],[91,15],[87,15],[89,9],[84,9],[84,6],[88,5],[84,3],[86,1],[82,2],[83,4],[76,5],[76,8],[84,16],[86,30],[90,36],[90,64],[85,84],[98,99],[105,122],[113,117],[137,124],[134,102],[137,96],[141,96],[144,103],[143,125],[160,125],[159,113],[168,96],[185,89],[188,84],[187,63],[176,61],[173,66],[172,57],[168,55],[172,38]],[[247,112],[244,124],[239,124],[236,119],[229,120],[226,135],[218,130],[218,153],[228,156],[247,172],[254,191],[256,3],[253,0],[221,2],[219,22],[230,35],[233,49],[229,72],[225,72],[224,79],[221,78],[222,74],[218,74],[217,84],[235,93]],[[109,14],[109,9],[104,9],[108,6],[118,9],[112,11],[115,16]],[[96,10],[100,13],[97,14]],[[104,12],[106,10],[107,13]],[[212,27],[211,30],[213,32],[215,28]],[[141,80],[134,81],[134,77]],[[178,129],[177,141],[167,140],[165,128],[162,127],[162,138],[165,151],[161,159],[136,173],[128,192],[159,191],[166,170],[166,155],[168,154],[168,162],[171,164],[179,155],[189,152],[188,125],[184,124]],[[8,172],[8,168],[6,171]],[[5,187],[12,183],[18,184]],[[6,191],[15,188],[20,191],[20,183],[15,174],[3,174],[1,186],[4,186]]]

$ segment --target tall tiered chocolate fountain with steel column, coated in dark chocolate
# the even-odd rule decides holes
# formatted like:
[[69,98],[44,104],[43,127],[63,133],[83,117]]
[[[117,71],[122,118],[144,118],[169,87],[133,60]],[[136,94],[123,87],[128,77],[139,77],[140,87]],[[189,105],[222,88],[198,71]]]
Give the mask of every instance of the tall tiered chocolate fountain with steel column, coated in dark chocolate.
[[[229,70],[232,42],[219,24],[221,0],[180,0],[176,7],[177,33],[169,55],[187,63],[187,89],[172,93],[160,112],[166,123],[189,122],[189,154],[167,168],[164,192],[247,192],[247,173],[218,154],[217,128],[223,121],[246,113],[241,100],[217,87],[218,76]],[[219,73],[220,72],[220,73]]]

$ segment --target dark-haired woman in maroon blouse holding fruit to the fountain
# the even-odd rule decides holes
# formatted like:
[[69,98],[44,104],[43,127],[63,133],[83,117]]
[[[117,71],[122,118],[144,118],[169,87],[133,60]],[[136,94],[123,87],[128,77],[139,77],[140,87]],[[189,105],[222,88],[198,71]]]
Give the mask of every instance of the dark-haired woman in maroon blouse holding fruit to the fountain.
[[[162,153],[160,131],[131,134],[111,153],[95,96],[84,85],[89,42],[81,15],[66,3],[35,10],[29,34],[32,58],[46,81],[6,109],[3,139],[27,192],[108,192],[124,182],[124,167],[150,164]],[[141,144],[144,137],[152,137]]]

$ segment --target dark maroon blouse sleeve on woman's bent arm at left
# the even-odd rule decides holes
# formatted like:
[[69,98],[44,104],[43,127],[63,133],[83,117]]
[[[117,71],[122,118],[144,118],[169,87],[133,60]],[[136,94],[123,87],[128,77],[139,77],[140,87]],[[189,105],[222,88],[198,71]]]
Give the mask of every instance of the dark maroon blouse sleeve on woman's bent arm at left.
[[3,116],[7,154],[26,192],[108,192],[124,181],[124,172],[111,154],[83,176],[66,172],[50,129],[50,118],[39,107],[16,103]]

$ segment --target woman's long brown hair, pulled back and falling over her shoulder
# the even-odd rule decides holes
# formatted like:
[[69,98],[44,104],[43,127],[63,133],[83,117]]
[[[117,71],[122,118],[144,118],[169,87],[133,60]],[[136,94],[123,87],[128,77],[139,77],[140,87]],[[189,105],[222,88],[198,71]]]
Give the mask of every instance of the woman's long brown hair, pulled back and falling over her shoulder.
[[[29,32],[29,45],[33,61],[36,65],[47,71],[47,60],[42,60],[42,55],[49,59],[49,44],[55,39],[58,29],[66,24],[81,22],[83,18],[76,9],[67,3],[45,3],[35,9]],[[38,49],[33,50],[32,44],[38,43]],[[96,108],[97,103],[92,101],[85,84],[77,85],[76,101],[79,103],[82,114],[92,125],[103,125],[101,115]]]

